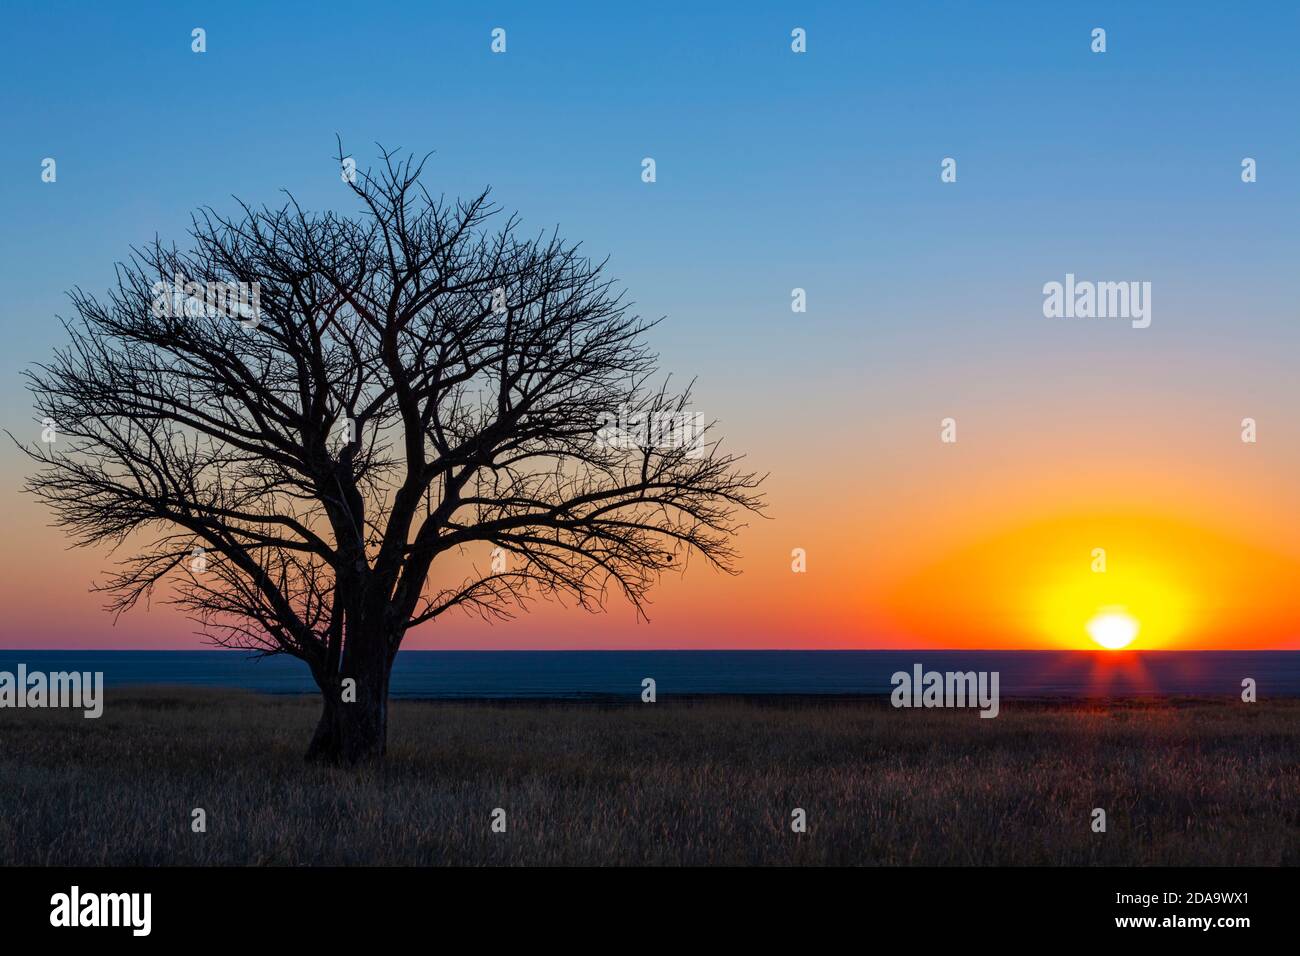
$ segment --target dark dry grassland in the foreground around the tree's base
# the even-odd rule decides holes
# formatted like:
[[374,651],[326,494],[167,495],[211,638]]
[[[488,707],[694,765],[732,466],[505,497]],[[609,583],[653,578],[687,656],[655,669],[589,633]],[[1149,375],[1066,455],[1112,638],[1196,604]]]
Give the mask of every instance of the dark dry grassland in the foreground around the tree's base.
[[1300,701],[412,701],[361,771],[303,763],[316,717],[168,688],[3,710],[0,862],[1300,864]]

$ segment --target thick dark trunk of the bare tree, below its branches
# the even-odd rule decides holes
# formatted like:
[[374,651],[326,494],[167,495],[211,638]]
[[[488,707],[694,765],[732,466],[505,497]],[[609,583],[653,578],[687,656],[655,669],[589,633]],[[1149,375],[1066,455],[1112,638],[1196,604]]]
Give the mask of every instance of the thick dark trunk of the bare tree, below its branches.
[[307,760],[352,766],[380,760],[389,744],[389,672],[382,633],[355,635],[337,675],[317,675],[322,710]]

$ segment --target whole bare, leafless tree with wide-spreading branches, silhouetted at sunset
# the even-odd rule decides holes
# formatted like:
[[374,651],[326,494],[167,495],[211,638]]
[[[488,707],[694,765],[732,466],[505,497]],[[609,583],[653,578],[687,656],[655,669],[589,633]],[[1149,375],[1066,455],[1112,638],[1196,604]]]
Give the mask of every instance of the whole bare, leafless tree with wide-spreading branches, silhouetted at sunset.
[[430,195],[424,160],[339,161],[356,216],[203,209],[190,251],[74,290],[70,345],[26,373],[55,441],[23,450],[74,542],[126,555],[110,610],[170,581],[212,643],[300,658],[307,756],[351,763],[386,748],[412,627],[533,596],[641,613],[690,553],[734,572],[762,479],[682,427],[604,263],[519,238],[486,190]]

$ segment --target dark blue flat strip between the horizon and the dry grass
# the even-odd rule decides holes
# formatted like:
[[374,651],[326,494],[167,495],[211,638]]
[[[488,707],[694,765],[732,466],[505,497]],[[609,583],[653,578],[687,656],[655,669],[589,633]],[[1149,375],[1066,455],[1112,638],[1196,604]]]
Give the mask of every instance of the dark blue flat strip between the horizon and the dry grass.
[[[188,684],[315,692],[306,665],[234,650],[0,650],[0,670],[103,671],[109,687]],[[406,650],[396,697],[582,697],[641,693],[889,693],[894,671],[998,671],[1004,697],[1231,695],[1300,697],[1300,650]]]

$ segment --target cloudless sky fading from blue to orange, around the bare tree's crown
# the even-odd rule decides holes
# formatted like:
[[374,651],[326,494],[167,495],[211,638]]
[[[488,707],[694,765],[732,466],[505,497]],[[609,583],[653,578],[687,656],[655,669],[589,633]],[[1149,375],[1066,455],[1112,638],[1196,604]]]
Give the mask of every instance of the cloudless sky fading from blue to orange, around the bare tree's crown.
[[[546,607],[410,646],[1082,646],[1123,606],[1139,646],[1297,648],[1297,9],[22,5],[0,421],[35,437],[18,371],[133,245],[233,195],[354,208],[339,134],[363,164],[434,151],[436,189],[491,185],[608,254],[667,316],[664,367],[771,472],[744,574],[667,579],[650,623]],[[1045,317],[1067,273],[1150,282],[1150,326]],[[198,646],[165,607],[112,624],[87,593],[108,555],[65,550],[25,468],[0,453],[0,645]]]

